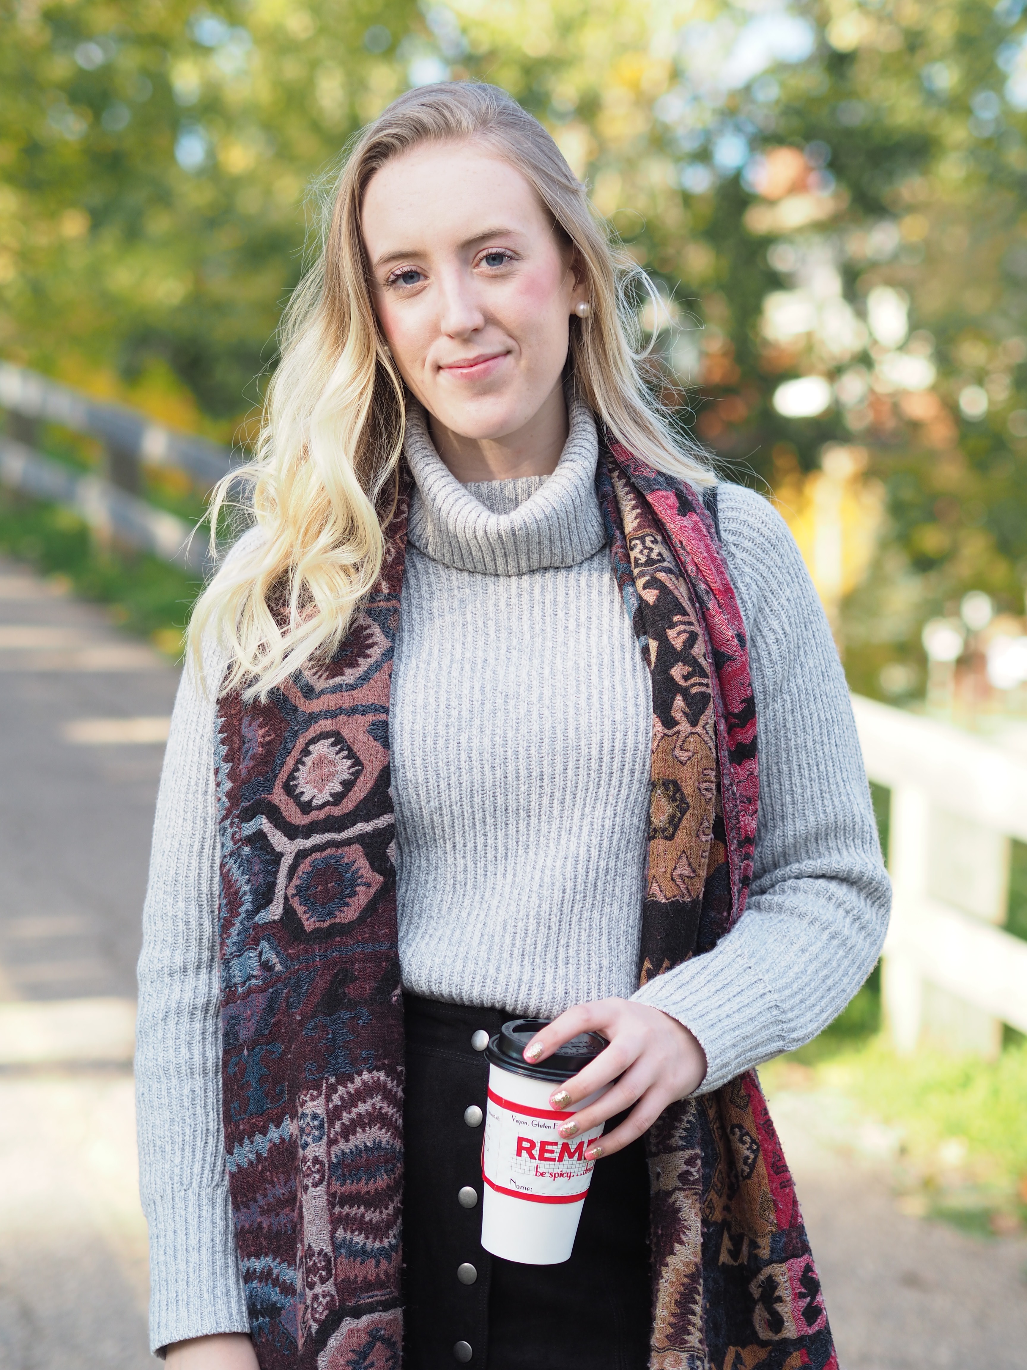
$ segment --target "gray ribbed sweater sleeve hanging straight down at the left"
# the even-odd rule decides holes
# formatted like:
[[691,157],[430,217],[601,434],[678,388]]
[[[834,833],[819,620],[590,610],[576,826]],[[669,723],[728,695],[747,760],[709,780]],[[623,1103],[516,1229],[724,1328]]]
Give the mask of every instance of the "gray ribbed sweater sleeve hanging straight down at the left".
[[248,1332],[225,1166],[214,778],[223,660],[182,674],[160,777],[138,963],[136,1097],[151,1349]]

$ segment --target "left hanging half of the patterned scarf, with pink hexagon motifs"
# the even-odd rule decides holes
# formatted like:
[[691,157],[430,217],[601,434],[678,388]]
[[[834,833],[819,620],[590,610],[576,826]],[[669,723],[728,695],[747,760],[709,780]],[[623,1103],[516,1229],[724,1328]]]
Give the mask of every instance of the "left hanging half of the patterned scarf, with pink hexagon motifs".
[[405,515],[334,659],[264,703],[219,703],[222,1111],[264,1370],[401,1356],[389,688]]

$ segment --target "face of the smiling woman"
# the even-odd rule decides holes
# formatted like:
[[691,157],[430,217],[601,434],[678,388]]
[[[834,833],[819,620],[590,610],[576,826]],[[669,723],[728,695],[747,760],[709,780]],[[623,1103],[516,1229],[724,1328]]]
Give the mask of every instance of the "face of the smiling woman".
[[362,226],[382,332],[424,408],[464,438],[529,426],[585,292],[524,177],[485,145],[424,144],[375,173]]

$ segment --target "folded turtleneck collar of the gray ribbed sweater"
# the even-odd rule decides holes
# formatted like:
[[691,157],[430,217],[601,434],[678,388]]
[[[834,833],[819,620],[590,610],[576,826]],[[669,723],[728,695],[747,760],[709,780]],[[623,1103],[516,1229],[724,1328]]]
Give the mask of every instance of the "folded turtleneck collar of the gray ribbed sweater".
[[419,404],[407,410],[404,453],[414,473],[407,536],[435,562],[482,575],[574,566],[605,544],[592,411],[567,396],[570,432],[552,475],[461,485],[429,434]]

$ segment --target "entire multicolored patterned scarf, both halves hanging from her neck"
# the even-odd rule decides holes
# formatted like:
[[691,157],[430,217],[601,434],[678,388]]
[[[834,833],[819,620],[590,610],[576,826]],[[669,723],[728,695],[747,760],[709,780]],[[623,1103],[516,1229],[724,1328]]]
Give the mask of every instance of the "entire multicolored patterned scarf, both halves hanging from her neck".
[[[745,629],[690,486],[624,448],[597,489],[652,671],[642,984],[742,915],[759,801]],[[223,1112],[263,1370],[398,1370],[403,1000],[389,690],[407,496],[334,659],[219,706]],[[755,1071],[649,1130],[652,1370],[837,1370]]]

